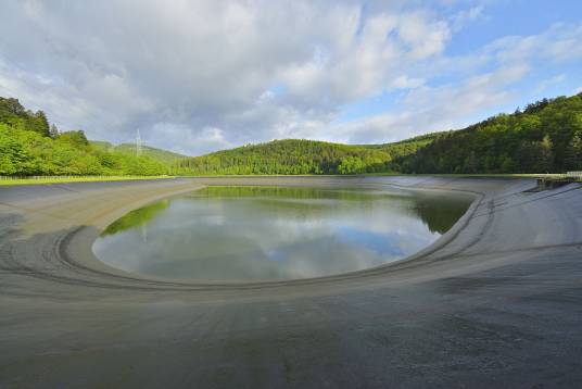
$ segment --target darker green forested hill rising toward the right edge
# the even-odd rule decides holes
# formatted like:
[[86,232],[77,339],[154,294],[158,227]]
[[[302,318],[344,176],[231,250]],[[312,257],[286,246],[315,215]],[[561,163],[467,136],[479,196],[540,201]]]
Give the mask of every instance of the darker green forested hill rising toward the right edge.
[[582,93],[541,100],[445,134],[396,159],[403,173],[561,173],[582,170]]

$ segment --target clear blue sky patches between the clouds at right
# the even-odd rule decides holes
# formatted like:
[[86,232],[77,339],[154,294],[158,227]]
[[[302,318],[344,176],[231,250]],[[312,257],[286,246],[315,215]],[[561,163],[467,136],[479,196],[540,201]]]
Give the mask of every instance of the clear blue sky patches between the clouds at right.
[[[510,36],[534,36],[556,25],[579,26],[582,22],[582,1],[497,0],[476,2],[472,8],[468,9],[464,7],[467,3],[470,2],[453,2],[451,7],[443,7],[439,10],[443,18],[464,12],[464,10],[469,12],[473,10],[477,13],[470,23],[463,25],[461,30],[452,35],[446,49],[443,51],[444,55],[452,58],[471,55],[498,39]],[[518,106],[543,98],[560,95],[570,96],[582,86],[581,64],[580,58],[573,58],[572,61],[559,64],[546,63],[545,61],[535,62],[533,64],[535,70],[511,86],[516,96],[510,102],[475,112],[459,123],[472,123],[498,112],[511,112]],[[483,70],[493,72],[495,65],[490,64]],[[430,85],[454,84],[459,78],[454,73],[447,73],[434,77]],[[385,91],[347,103],[340,108],[340,113],[336,120],[338,123],[349,123],[379,115],[389,110],[397,110],[398,101],[405,93],[403,91]]]

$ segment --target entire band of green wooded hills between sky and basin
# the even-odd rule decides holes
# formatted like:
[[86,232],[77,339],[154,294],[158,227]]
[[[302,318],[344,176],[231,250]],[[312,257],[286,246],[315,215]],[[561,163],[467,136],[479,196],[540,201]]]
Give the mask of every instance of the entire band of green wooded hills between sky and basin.
[[383,145],[286,139],[197,158],[88,141],[0,98],[0,175],[562,173],[582,170],[582,93],[544,99],[460,130]]

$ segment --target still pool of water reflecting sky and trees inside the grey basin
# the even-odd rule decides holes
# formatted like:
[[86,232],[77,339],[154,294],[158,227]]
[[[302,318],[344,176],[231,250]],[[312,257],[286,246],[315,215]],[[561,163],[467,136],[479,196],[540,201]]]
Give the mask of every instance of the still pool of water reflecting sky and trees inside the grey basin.
[[111,266],[165,278],[319,277],[419,251],[470,200],[377,189],[208,187],[128,213],[93,251]]

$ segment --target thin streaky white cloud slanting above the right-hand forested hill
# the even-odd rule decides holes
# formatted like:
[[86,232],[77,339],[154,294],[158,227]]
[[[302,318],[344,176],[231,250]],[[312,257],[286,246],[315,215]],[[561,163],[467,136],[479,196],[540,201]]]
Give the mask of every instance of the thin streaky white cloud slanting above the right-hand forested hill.
[[[334,124],[326,129],[326,138],[354,143],[385,142],[466,126],[471,123],[468,118],[476,114],[498,110],[515,101],[517,90],[514,86],[540,62],[582,58],[578,48],[571,48],[568,53],[564,50],[572,39],[582,40],[582,27],[553,26],[540,35],[498,39],[466,57],[440,58],[431,64],[435,75],[454,72],[466,77],[439,87],[425,81],[408,91],[397,111]],[[493,71],[483,71],[486,67]],[[566,74],[557,74],[537,83],[532,92],[541,93],[566,78]]]

